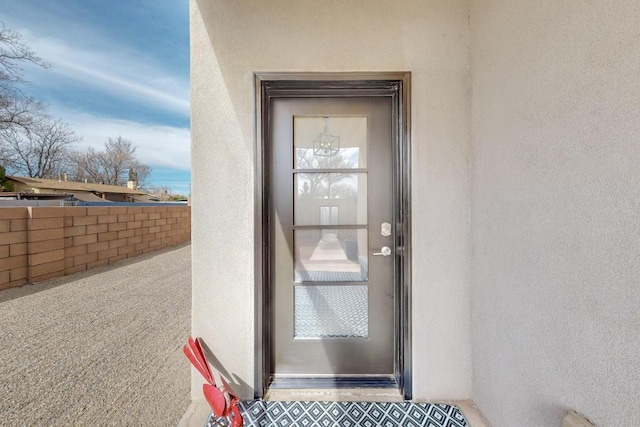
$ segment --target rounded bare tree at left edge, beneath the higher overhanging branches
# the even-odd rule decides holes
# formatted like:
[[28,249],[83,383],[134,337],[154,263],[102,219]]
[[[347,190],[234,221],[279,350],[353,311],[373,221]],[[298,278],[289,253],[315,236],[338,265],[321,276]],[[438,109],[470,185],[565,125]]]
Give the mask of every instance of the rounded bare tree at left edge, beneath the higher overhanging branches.
[[4,138],[10,170],[32,178],[54,178],[66,171],[71,146],[80,138],[61,120],[40,117],[29,131],[18,130]]

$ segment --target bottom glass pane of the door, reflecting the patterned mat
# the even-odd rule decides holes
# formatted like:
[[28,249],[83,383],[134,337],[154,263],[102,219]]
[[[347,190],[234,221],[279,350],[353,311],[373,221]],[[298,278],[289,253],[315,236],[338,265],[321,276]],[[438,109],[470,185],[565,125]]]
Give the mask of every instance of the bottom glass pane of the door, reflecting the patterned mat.
[[295,286],[295,338],[367,338],[366,285]]

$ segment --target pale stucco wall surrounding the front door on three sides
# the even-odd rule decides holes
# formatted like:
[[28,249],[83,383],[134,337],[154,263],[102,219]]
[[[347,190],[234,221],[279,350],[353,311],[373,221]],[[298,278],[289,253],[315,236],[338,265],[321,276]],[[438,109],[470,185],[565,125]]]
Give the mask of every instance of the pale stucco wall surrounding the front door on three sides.
[[[471,397],[464,0],[191,0],[193,334],[253,395],[255,71],[410,71],[416,399]],[[199,379],[193,398],[201,399]]]

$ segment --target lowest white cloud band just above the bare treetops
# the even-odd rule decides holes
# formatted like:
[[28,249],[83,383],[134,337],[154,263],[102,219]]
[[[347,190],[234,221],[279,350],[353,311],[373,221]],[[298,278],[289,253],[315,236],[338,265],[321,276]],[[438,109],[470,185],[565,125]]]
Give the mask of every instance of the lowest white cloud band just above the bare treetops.
[[83,138],[78,148],[103,149],[108,137],[122,136],[136,147],[136,157],[147,165],[173,169],[191,169],[191,133],[189,129],[127,120],[97,117],[68,111],[55,111]]

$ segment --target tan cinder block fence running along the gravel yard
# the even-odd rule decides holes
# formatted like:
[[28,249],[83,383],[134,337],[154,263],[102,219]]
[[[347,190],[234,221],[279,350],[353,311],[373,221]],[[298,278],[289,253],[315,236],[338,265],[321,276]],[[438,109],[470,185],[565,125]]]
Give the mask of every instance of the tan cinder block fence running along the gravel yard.
[[191,208],[0,208],[0,289],[188,242]]

